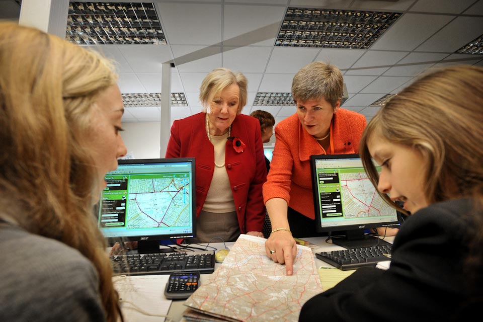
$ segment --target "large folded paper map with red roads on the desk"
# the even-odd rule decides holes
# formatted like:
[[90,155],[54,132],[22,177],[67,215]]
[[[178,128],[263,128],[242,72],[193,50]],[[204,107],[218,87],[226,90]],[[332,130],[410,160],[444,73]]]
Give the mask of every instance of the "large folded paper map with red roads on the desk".
[[287,276],[285,265],[268,258],[265,240],[240,235],[185,305],[229,321],[298,320],[302,305],[323,291],[312,251],[297,245],[293,275]]

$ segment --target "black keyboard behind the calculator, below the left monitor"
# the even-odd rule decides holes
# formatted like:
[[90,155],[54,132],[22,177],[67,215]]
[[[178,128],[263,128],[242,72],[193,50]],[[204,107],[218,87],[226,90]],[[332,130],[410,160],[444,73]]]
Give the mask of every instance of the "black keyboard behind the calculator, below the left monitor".
[[215,252],[154,253],[110,256],[114,275],[171,274],[199,271],[210,274],[215,270]]

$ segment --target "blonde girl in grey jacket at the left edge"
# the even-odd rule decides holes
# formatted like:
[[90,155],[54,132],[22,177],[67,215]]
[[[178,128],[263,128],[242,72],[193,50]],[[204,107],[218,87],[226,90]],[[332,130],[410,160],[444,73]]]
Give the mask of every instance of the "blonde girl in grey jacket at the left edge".
[[118,321],[94,204],[126,153],[111,63],[0,23],[0,320]]

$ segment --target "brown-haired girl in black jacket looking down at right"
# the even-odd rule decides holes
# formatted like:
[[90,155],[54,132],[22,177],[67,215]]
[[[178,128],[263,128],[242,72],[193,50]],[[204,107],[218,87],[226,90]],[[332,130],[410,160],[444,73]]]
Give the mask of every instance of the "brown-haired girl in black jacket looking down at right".
[[[411,216],[388,270],[358,269],[306,302],[300,321],[462,321],[483,304],[483,68],[433,71],[394,96],[360,143],[388,204]],[[371,157],[382,167],[380,174]],[[397,290],[397,291],[394,291]]]

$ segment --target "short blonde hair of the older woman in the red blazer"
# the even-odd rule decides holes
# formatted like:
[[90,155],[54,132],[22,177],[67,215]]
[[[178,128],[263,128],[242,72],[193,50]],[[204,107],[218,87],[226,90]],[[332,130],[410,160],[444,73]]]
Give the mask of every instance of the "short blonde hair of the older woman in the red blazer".
[[210,71],[203,79],[200,87],[200,102],[206,111],[210,98],[219,96],[221,92],[228,86],[236,84],[240,89],[240,100],[238,102],[237,114],[247,104],[247,78],[240,72],[233,72],[228,68],[215,68]]

